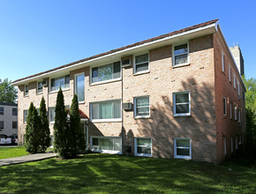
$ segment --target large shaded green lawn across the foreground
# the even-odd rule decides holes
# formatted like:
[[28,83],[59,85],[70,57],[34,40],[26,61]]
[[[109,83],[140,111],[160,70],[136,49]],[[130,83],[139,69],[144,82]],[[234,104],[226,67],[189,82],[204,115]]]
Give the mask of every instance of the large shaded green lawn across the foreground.
[[0,193],[256,193],[256,165],[87,154],[0,168]]

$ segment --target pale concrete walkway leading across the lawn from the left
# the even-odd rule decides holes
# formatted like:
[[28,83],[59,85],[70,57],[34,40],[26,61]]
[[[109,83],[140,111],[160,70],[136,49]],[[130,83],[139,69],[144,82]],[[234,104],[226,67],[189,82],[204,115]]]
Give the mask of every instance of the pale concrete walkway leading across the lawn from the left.
[[13,164],[20,164],[29,161],[45,160],[53,157],[56,157],[56,153],[35,153],[11,159],[2,159],[0,160],[0,167]]

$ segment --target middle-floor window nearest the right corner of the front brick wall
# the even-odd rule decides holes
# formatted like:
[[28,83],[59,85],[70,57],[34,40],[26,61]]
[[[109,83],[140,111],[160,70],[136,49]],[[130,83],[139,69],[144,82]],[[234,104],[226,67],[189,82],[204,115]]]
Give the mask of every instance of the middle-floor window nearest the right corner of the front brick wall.
[[191,115],[190,92],[173,93],[173,112],[174,116]]

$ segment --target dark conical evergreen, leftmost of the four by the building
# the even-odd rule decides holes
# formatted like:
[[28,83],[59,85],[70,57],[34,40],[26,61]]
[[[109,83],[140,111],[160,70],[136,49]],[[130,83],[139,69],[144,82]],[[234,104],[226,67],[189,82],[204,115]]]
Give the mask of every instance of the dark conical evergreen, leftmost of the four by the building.
[[28,116],[26,119],[25,147],[28,153],[38,153],[40,151],[40,131],[41,120],[33,102],[30,103]]

